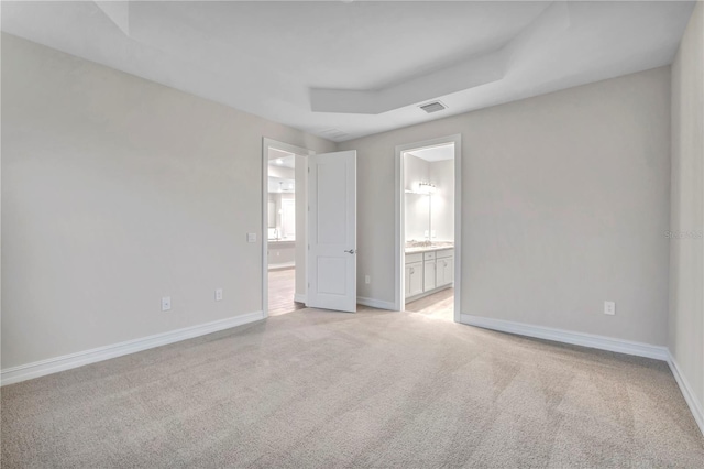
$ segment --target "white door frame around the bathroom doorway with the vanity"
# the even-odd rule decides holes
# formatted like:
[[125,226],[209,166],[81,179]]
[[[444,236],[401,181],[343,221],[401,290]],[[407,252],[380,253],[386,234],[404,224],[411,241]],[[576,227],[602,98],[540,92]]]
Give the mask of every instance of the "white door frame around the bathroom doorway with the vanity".
[[453,317],[455,323],[460,323],[462,315],[461,297],[462,297],[462,134],[440,137],[420,142],[406,143],[396,145],[396,210],[395,210],[395,290],[394,295],[396,310],[404,310],[406,306],[406,290],[404,280],[404,268],[406,254],[404,247],[406,246],[406,204],[405,204],[405,164],[404,153],[411,150],[419,150],[428,146],[438,146],[448,143],[454,143],[454,310]]

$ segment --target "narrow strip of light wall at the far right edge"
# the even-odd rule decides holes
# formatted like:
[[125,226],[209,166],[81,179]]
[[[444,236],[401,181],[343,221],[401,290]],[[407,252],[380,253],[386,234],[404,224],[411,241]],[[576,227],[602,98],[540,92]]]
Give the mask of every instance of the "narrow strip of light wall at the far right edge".
[[672,64],[670,337],[674,361],[704,404],[704,4]]

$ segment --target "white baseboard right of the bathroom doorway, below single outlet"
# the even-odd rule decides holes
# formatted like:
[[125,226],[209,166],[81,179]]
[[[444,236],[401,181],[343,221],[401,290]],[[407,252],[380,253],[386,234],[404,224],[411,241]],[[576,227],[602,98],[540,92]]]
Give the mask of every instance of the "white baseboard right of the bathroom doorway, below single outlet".
[[667,347],[651,346],[649,343],[632,342],[629,340],[614,339],[610,337],[595,336],[592,334],[553,329],[551,327],[531,326],[528,324],[471,316],[466,314],[461,315],[460,321],[462,324],[482,327],[484,329],[499,330],[502,332],[517,334],[519,336],[553,340],[556,342],[572,343],[574,346],[608,350],[637,357],[653,358],[656,360],[667,361],[669,357]]

